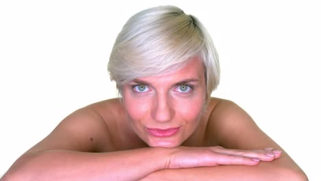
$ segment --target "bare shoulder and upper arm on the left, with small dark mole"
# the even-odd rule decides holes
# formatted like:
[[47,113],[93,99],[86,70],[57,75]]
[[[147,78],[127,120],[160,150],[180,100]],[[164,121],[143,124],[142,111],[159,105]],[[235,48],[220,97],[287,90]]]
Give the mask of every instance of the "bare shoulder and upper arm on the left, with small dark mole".
[[[28,152],[66,149],[79,152],[108,152],[113,149],[109,121],[117,99],[108,99],[75,110],[64,118],[56,128]],[[110,119],[106,119],[109,115]]]

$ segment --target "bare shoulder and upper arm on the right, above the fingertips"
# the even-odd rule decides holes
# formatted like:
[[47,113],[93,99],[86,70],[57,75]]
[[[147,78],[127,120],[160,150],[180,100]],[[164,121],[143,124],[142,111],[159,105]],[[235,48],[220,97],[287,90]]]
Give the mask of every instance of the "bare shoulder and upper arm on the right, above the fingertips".
[[234,149],[279,147],[235,102],[227,99],[213,99],[217,103],[209,116],[207,129],[209,136],[215,139],[216,143]]

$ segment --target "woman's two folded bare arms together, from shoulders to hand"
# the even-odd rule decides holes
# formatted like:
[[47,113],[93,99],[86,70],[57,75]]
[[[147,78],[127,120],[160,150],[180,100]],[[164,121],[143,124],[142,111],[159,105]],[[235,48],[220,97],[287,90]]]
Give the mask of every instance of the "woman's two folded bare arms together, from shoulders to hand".
[[[82,109],[16,160],[1,180],[307,180],[241,108],[226,101],[216,109],[226,114],[211,114],[211,120],[224,117],[224,121],[209,123],[209,137],[218,138],[222,147],[104,153],[96,151],[101,143],[111,145],[105,135],[108,128],[95,112]],[[89,136],[97,142],[88,141]],[[264,147],[283,151],[282,156]]]

